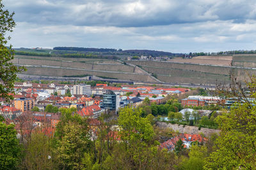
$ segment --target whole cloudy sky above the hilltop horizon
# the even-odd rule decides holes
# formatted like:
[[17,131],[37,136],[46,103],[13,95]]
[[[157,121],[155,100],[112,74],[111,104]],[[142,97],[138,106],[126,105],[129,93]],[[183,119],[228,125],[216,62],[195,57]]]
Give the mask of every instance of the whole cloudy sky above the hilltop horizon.
[[256,50],[255,0],[2,0],[15,48]]

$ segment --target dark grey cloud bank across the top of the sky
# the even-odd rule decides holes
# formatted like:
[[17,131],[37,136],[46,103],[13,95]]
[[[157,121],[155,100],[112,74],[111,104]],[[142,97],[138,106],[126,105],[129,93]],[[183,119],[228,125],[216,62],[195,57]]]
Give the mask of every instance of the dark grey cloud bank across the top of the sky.
[[109,25],[145,27],[184,24],[207,20],[254,19],[255,1],[239,0],[5,0],[4,4],[17,13],[18,22],[71,25]]

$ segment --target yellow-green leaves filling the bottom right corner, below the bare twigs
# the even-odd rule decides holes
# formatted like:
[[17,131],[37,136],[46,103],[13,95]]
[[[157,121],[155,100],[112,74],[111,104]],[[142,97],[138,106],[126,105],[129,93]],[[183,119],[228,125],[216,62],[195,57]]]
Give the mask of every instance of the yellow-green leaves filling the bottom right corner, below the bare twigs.
[[217,117],[220,137],[205,169],[254,169],[256,167],[256,106],[235,104],[230,113]]

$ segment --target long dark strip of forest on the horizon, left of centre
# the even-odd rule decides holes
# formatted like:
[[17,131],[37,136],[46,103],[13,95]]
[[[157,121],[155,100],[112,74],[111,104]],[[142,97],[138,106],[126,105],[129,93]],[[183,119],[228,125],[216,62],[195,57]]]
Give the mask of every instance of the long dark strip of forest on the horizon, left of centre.
[[77,51],[77,52],[117,52],[122,51],[114,48],[84,48],[84,47],[68,47],[68,46],[56,46],[53,50],[65,50],[65,51]]

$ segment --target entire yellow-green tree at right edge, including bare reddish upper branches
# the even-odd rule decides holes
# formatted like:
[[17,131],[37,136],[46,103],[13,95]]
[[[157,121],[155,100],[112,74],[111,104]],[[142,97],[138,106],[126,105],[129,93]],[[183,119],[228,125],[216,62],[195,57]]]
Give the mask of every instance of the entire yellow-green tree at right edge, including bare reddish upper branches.
[[[213,152],[205,161],[205,169],[255,169],[256,167],[256,78],[244,87],[232,79],[231,88],[220,89],[222,96],[236,99],[229,113],[216,118],[221,132]],[[231,91],[230,91],[231,89]]]

